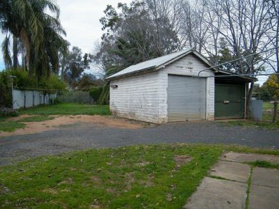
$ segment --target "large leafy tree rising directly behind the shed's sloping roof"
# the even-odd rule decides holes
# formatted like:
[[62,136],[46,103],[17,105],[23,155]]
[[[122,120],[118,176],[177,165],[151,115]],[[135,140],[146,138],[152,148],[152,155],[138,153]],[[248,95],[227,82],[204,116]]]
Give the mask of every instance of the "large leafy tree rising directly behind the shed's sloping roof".
[[119,3],[120,13],[107,6],[105,17],[100,19],[105,33],[100,49],[93,56],[94,61],[103,65],[106,75],[178,49],[179,38],[169,18],[154,17],[153,6],[147,1],[133,1],[130,6]]

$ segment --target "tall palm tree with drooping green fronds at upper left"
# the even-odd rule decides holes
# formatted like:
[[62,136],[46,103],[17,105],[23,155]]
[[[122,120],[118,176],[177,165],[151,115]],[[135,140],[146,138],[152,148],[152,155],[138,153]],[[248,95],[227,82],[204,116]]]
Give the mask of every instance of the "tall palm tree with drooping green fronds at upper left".
[[[6,33],[2,43],[4,61],[11,66],[10,36],[13,36],[13,67],[18,65],[19,42],[24,47],[25,62],[30,72],[38,77],[57,72],[58,54],[65,53],[68,42],[59,22],[60,10],[52,0],[1,0],[1,29]],[[50,10],[52,15],[45,13]]]

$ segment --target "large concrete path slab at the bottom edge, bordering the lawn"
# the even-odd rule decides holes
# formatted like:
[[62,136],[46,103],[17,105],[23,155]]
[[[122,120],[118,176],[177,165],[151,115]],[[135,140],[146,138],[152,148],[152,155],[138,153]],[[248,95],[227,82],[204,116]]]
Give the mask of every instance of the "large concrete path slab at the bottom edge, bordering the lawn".
[[247,185],[230,180],[206,177],[184,208],[239,209],[245,208]]

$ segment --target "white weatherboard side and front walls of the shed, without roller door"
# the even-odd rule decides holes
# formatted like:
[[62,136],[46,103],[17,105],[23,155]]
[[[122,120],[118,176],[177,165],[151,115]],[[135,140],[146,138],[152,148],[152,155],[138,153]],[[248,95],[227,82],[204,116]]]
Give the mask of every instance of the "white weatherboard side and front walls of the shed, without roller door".
[[[167,65],[157,72],[112,80],[110,86],[110,111],[124,118],[151,123],[167,122],[167,77],[168,75],[197,76],[208,68],[192,54]],[[200,76],[213,76],[211,70]],[[206,120],[214,120],[214,78],[206,78]]]

